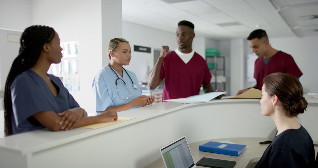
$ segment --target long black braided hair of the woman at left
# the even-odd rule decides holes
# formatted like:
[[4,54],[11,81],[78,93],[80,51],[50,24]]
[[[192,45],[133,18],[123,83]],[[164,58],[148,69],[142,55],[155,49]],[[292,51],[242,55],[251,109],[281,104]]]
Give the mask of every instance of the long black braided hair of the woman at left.
[[19,54],[12,63],[4,88],[4,132],[6,136],[12,134],[11,83],[17,75],[34,66],[43,46],[50,43],[54,35],[55,30],[52,27],[43,25],[27,27],[21,35]]

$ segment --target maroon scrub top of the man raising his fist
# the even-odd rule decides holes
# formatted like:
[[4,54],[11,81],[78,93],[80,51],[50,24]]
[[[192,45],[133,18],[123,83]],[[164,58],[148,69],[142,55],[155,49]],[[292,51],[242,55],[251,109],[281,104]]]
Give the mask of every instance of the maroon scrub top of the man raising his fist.
[[162,101],[197,95],[201,85],[210,83],[211,73],[206,61],[194,53],[190,61],[183,60],[172,51],[163,59],[160,79],[165,78]]

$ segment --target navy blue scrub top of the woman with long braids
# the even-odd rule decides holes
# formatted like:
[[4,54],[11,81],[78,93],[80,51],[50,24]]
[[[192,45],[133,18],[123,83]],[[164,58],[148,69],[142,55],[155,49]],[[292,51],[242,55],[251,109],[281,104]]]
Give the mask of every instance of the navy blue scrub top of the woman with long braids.
[[34,71],[26,70],[12,82],[12,133],[18,134],[45,128],[32,115],[42,111],[61,113],[79,107],[73,96],[63,86],[62,81],[48,74],[58,95],[54,96],[46,82]]

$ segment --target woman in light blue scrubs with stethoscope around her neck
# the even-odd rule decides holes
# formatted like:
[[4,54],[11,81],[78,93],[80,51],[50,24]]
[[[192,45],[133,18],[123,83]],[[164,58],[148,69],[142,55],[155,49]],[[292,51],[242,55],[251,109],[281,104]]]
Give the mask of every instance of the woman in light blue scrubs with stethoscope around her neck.
[[121,38],[111,39],[107,52],[110,62],[93,80],[96,112],[120,112],[154,102],[155,97],[142,95],[136,74],[123,67],[131,60],[129,42]]

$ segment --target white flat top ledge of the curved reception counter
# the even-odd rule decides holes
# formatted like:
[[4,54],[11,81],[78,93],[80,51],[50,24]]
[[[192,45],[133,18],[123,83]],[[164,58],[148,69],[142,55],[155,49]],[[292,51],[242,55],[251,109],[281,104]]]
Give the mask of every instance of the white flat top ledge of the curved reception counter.
[[[54,146],[70,143],[81,138],[86,138],[92,135],[100,134],[109,130],[117,129],[132,123],[147,120],[152,117],[164,115],[166,113],[176,111],[182,108],[190,106],[199,106],[202,104],[213,104],[213,103],[231,103],[231,102],[251,102],[257,103],[259,99],[221,99],[212,100],[207,103],[196,103],[196,104],[180,104],[174,102],[158,103],[151,106],[142,108],[135,108],[119,112],[119,116],[134,117],[135,119],[126,122],[121,122],[111,126],[107,126],[100,129],[84,129],[77,128],[68,131],[52,132],[48,129],[41,129],[31,131],[28,133],[17,134],[14,136],[8,136],[0,138],[0,150],[6,150],[21,155],[30,154],[33,152],[45,150]],[[317,103],[318,100],[309,100],[308,103]]]

